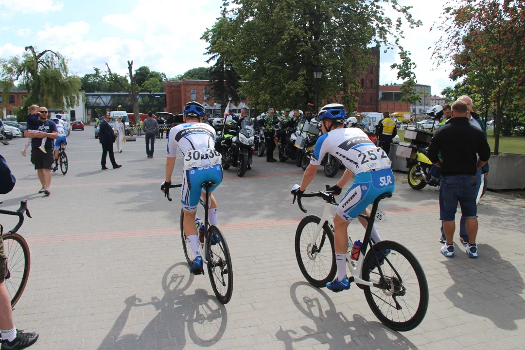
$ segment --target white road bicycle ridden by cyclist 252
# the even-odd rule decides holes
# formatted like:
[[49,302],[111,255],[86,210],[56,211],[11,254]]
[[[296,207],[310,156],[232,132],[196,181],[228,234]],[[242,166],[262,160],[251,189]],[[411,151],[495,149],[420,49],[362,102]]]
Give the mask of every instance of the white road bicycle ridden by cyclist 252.
[[[327,185],[326,191],[295,195],[299,208],[307,213],[302,197],[318,197],[325,201],[322,217],[304,217],[297,227],[295,237],[296,258],[304,278],[315,287],[325,287],[335,278],[333,217],[338,203]],[[374,220],[384,219],[377,211],[379,202],[392,197],[391,193],[374,200],[370,217],[361,214],[368,222],[357,261],[351,258],[353,244],[348,235],[349,249],[346,264],[355,282],[364,291],[366,301],[374,315],[395,331],[409,331],[424,319],[428,308],[428,285],[425,272],[417,258],[400,243],[388,240],[374,242],[371,237]],[[366,252],[370,244],[370,250]],[[390,250],[390,253],[385,251]],[[401,266],[400,266],[401,265]]]

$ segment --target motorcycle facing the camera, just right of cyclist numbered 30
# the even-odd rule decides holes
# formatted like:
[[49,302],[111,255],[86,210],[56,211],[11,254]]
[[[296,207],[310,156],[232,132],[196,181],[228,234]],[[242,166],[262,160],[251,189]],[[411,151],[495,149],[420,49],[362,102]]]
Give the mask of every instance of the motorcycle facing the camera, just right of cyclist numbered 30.
[[222,166],[227,170],[230,166],[237,168],[237,176],[243,177],[253,162],[251,155],[254,147],[254,122],[245,117],[241,120],[240,129],[235,120],[229,120],[224,125],[224,135],[220,140]]

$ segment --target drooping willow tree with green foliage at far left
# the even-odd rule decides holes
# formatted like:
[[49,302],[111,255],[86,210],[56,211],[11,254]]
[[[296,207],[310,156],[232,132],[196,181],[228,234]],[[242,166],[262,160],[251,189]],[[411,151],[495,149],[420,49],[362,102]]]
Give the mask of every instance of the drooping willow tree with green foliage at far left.
[[[19,120],[24,120],[33,103],[63,109],[75,107],[80,98],[80,78],[69,73],[66,58],[51,50],[38,52],[33,46],[27,46],[22,57],[0,59],[0,87],[8,92],[15,84],[29,92]],[[2,107],[8,103],[9,99],[3,99]]]

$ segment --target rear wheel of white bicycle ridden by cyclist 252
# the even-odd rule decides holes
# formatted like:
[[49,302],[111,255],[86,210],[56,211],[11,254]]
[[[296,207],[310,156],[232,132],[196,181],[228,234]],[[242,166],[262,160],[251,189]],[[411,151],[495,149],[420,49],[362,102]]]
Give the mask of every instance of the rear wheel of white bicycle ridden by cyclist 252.
[[[383,251],[390,249],[384,256]],[[400,243],[380,241],[374,245],[381,255],[383,278],[376,267],[372,249],[363,261],[363,280],[381,288],[363,286],[370,309],[384,325],[394,331],[413,330],[424,319],[428,308],[428,284],[425,272],[414,254]],[[381,261],[380,261],[381,263]]]

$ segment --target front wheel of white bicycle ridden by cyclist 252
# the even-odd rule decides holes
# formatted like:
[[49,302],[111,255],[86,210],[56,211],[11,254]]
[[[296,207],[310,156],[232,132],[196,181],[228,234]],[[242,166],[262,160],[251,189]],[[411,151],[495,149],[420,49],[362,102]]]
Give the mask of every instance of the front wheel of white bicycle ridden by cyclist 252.
[[325,222],[317,240],[313,241],[321,218],[316,215],[304,217],[297,226],[295,248],[299,269],[306,280],[315,287],[326,287],[337,273],[333,232]]

